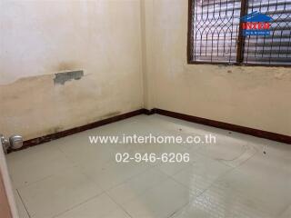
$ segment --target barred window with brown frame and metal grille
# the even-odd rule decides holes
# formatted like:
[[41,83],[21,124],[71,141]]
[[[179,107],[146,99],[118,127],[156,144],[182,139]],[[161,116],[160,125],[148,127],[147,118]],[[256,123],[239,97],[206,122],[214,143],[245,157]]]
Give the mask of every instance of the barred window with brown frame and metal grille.
[[291,0],[189,0],[188,25],[189,64],[291,65]]

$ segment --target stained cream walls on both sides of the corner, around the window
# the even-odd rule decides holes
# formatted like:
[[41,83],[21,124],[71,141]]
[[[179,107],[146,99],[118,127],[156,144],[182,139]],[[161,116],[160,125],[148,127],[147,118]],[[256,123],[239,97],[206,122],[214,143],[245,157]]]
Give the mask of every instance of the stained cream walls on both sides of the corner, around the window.
[[3,134],[146,106],[291,135],[291,68],[186,64],[187,0],[2,0],[0,28]]

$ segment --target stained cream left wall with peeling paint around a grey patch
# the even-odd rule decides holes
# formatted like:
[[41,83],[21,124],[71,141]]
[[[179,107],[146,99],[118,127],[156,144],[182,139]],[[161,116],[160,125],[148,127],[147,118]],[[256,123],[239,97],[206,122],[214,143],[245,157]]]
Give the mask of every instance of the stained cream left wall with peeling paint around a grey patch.
[[[139,0],[1,0],[0,133],[25,140],[144,107]],[[54,84],[55,73],[85,76]]]

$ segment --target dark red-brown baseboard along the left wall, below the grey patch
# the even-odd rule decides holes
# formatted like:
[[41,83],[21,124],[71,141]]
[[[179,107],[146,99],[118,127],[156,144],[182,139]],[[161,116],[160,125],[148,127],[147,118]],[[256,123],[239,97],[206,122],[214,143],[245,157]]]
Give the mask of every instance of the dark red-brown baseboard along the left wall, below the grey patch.
[[[114,123],[117,121],[125,120],[125,119],[133,117],[135,115],[146,114],[146,113],[147,113],[146,109],[139,109],[139,110],[129,112],[126,114],[120,114],[120,115],[116,115],[114,117],[106,118],[104,120],[96,121],[92,124],[85,124],[85,125],[75,127],[72,129],[68,129],[65,131],[61,131],[61,132],[58,132],[55,134],[47,134],[45,136],[41,136],[41,137],[37,137],[37,138],[25,141],[23,147],[18,149],[18,150],[23,150],[25,148],[32,147],[32,146],[35,146],[37,144],[48,143],[48,142],[53,141],[55,139],[59,139],[59,138],[62,138],[62,137],[65,137],[65,136],[68,136],[71,134],[78,134],[78,133],[81,133],[83,131],[99,127],[101,125],[111,124],[111,123]],[[14,150],[14,151],[18,151],[18,150]],[[14,152],[14,151],[9,151],[9,152]]]

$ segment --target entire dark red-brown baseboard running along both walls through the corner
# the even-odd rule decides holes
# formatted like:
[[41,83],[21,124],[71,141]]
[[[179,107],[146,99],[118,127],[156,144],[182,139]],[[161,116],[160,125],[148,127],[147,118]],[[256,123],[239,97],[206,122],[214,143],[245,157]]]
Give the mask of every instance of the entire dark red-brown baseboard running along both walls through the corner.
[[[126,114],[116,115],[114,117],[110,117],[110,118],[107,118],[105,120],[100,120],[100,121],[97,121],[97,122],[92,123],[92,124],[85,124],[85,125],[75,127],[72,129],[68,129],[65,131],[61,131],[61,132],[58,132],[55,134],[47,134],[45,136],[41,136],[41,137],[27,140],[24,142],[24,146],[18,150],[23,150],[25,148],[35,146],[37,144],[44,144],[44,143],[47,143],[47,142],[53,141],[55,139],[59,139],[59,138],[71,135],[71,134],[78,134],[78,133],[83,132],[85,130],[89,130],[89,129],[99,127],[101,125],[111,124],[111,123],[114,123],[117,121],[125,120],[127,118],[130,118],[130,117],[133,117],[133,116],[139,115],[139,114],[147,114],[147,115],[161,114],[161,115],[170,116],[170,117],[173,117],[176,119],[185,120],[185,121],[196,123],[196,124],[205,124],[205,125],[213,126],[216,128],[241,133],[241,134],[250,134],[250,135],[253,135],[256,137],[266,138],[266,139],[270,139],[270,140],[280,142],[280,143],[291,144],[291,136],[284,135],[284,134],[275,134],[275,133],[266,132],[263,130],[252,129],[249,127],[240,126],[240,125],[236,125],[236,124],[227,124],[227,123],[220,122],[220,121],[210,120],[210,119],[201,118],[201,117],[192,116],[192,115],[187,115],[187,114],[180,114],[180,113],[166,111],[166,110],[162,110],[162,109],[158,109],[158,108],[153,108],[151,110],[143,108],[143,109],[139,109],[139,110],[129,112]],[[18,151],[18,150],[14,150],[14,151]],[[9,152],[12,152],[12,151],[9,151]]]

